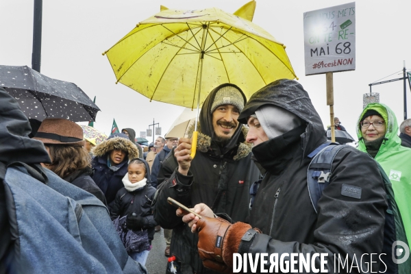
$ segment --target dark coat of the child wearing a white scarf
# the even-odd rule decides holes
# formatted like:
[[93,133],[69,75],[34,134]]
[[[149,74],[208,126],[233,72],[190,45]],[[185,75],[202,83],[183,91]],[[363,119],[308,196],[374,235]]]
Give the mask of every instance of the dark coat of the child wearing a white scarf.
[[[149,171],[149,164],[145,160],[146,171]],[[145,178],[147,182],[142,188],[138,188],[129,192],[126,188],[121,188],[117,192],[114,200],[112,211],[110,212],[111,219],[114,221],[118,216],[126,216],[129,213],[136,212],[137,216],[145,217],[145,226],[142,229],[147,229],[149,241],[154,238],[154,227],[157,225],[154,221],[153,210],[151,203],[155,195],[155,188],[151,186],[150,175],[146,172]]]

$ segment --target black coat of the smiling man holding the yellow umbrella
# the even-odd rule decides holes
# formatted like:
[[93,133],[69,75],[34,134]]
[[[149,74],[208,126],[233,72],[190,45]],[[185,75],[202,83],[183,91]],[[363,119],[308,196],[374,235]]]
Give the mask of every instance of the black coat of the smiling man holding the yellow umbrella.
[[235,221],[247,221],[249,188],[260,177],[260,172],[251,161],[252,145],[245,142],[247,127],[240,124],[223,148],[212,140],[214,130],[210,109],[216,90],[221,87],[212,90],[203,103],[199,117],[197,153],[191,162],[188,176],[177,172],[174,149],[162,162],[162,169],[158,174],[158,182],[163,183],[158,186],[155,221],[166,229],[173,229],[171,253],[194,267],[197,273],[206,271],[198,255],[197,234],[192,234],[182,218],[175,216],[176,209],[167,203],[167,197],[188,207],[206,203],[214,212],[227,213]]

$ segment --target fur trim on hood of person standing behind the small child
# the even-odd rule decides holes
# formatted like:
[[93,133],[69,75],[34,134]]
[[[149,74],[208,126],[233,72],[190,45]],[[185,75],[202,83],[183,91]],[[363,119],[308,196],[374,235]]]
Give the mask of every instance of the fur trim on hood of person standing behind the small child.
[[114,149],[121,149],[127,153],[127,159],[131,160],[138,158],[138,149],[132,141],[126,138],[114,137],[101,142],[92,149],[92,153],[96,157],[103,157]]

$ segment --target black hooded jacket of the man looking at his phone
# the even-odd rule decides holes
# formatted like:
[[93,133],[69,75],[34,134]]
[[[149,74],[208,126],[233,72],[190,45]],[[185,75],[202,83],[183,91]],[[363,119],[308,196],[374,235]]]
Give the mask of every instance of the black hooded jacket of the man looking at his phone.
[[[306,125],[253,147],[266,174],[252,206],[250,225],[261,229],[262,234],[256,234],[247,245],[242,242],[238,252],[278,256],[328,253],[329,273],[334,273],[334,254],[342,258],[347,254],[351,265],[354,256],[358,259],[364,253],[381,253],[387,203],[373,159],[351,147],[341,150],[332,164],[330,184],[323,190],[316,214],[308,194],[311,159],[307,155],[326,141],[319,114],[300,84],[279,80],[253,95],[240,119],[264,104],[284,108]],[[361,188],[360,199],[343,195],[343,184]],[[369,256],[362,260],[363,269],[369,261]],[[373,261],[377,261],[373,264],[373,271],[377,271],[379,260]]]

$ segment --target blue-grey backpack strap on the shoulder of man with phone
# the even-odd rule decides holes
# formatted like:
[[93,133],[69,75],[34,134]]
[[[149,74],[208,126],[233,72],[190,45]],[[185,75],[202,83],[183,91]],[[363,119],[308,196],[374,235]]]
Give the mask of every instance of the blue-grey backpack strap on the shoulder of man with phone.
[[312,158],[307,170],[308,194],[316,213],[318,213],[317,203],[332,175],[332,162],[337,153],[345,147],[349,147],[349,145],[326,142],[308,155],[309,158]]

